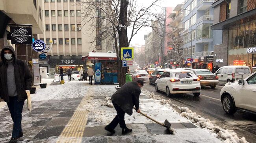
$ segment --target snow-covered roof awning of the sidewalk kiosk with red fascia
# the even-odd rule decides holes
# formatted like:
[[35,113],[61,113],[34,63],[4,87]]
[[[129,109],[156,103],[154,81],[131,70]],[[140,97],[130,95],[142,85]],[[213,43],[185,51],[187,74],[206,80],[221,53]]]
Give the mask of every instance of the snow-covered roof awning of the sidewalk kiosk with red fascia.
[[89,52],[88,60],[117,60],[117,54],[106,52]]

